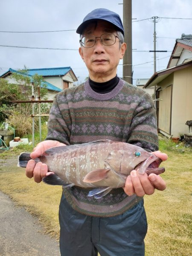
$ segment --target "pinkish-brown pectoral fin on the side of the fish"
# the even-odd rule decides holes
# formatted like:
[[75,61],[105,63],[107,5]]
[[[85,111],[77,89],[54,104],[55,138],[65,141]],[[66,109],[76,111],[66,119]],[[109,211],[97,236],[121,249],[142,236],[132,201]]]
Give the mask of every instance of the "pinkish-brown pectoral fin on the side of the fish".
[[98,169],[98,170],[91,171],[87,173],[83,181],[87,183],[93,183],[99,180],[106,179],[108,177],[109,171],[110,169]]

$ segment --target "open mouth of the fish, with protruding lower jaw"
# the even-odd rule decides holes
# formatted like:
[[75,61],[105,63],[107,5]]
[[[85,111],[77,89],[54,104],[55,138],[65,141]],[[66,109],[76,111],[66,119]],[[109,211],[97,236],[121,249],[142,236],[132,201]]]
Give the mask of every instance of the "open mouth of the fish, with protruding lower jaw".
[[159,157],[151,155],[145,161],[138,164],[135,167],[135,170],[137,170],[140,174],[144,174],[146,172],[147,175],[149,175],[151,173],[159,175],[159,174],[165,172],[164,167],[159,167],[161,162],[162,162],[162,160]]

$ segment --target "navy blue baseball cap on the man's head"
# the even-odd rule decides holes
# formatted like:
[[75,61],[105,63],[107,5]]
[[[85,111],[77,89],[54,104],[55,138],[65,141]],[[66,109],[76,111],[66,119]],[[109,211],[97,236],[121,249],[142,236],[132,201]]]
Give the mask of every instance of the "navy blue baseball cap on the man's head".
[[117,30],[121,31],[124,35],[124,29],[120,16],[117,13],[104,8],[95,9],[88,13],[87,16],[84,17],[81,25],[77,28],[76,32],[81,35],[90,21],[94,20],[106,20],[116,26]]

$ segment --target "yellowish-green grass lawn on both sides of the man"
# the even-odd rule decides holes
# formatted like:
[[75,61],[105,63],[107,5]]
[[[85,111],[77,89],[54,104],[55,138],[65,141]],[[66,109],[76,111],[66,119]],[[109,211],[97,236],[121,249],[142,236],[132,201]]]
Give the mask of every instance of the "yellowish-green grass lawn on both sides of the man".
[[[38,216],[49,233],[58,239],[60,186],[35,183],[16,165],[20,151],[15,148],[0,154],[0,190],[19,206]],[[192,251],[192,149],[160,137],[160,150],[169,155],[161,164],[166,172],[167,189],[144,197],[148,218],[146,256],[190,256]]]

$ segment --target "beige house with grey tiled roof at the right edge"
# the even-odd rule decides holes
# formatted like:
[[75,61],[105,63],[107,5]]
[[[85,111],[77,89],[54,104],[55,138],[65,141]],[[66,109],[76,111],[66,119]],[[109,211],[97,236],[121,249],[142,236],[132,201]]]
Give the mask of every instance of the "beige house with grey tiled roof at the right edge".
[[145,88],[156,85],[157,125],[167,137],[187,134],[192,120],[192,35],[176,39],[166,70],[154,73]]

